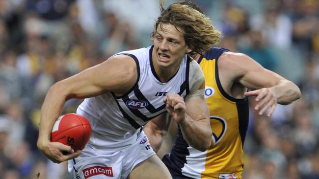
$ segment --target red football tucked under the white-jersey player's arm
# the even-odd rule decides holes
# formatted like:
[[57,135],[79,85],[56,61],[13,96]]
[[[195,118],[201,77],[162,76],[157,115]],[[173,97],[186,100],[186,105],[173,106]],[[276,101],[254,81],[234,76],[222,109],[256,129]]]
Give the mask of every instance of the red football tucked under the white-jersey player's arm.
[[76,113],[61,115],[54,123],[51,141],[71,146],[74,151],[82,150],[91,135],[91,125]]

